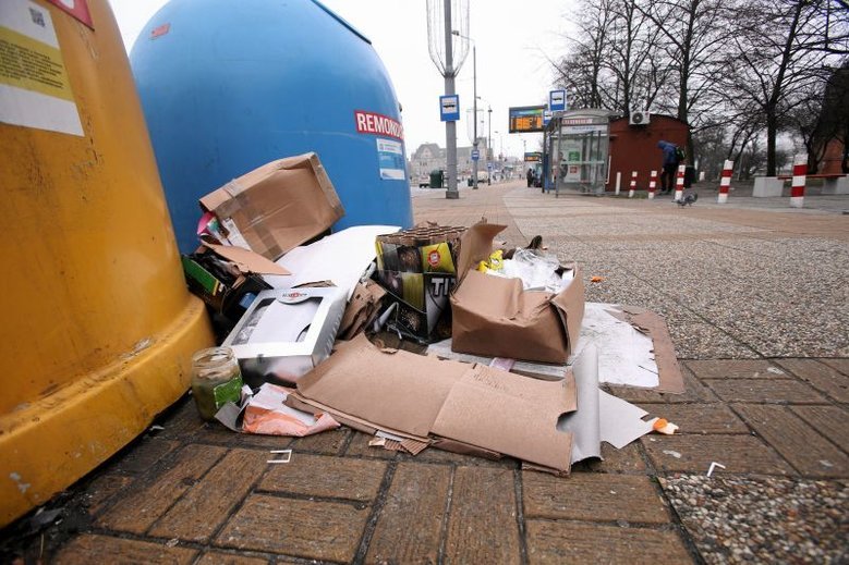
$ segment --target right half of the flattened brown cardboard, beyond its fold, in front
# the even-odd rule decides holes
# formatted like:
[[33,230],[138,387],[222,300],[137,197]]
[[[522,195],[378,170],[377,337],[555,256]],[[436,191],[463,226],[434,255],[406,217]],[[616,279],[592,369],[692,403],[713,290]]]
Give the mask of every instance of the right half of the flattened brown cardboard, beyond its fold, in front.
[[560,415],[573,409],[565,381],[534,381],[531,390],[502,377],[488,367],[468,370],[451,389],[433,432],[568,470],[572,434],[557,430]]

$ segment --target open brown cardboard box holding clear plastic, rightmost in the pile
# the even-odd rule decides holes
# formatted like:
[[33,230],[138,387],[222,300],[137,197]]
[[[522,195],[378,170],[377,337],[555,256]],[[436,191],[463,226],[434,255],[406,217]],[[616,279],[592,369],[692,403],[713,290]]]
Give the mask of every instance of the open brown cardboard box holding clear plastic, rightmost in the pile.
[[519,279],[474,270],[493,253],[493,238],[506,226],[477,223],[461,238],[458,283],[451,294],[451,348],[489,357],[565,364],[578,342],[584,286],[574,266],[569,285],[557,294],[524,291]]

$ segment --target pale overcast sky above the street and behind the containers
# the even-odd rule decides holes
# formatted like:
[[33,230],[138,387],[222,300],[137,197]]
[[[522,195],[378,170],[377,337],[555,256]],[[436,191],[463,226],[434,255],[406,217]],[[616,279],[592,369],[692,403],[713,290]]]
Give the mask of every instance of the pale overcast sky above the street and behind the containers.
[[[130,51],[147,21],[167,0],[109,2]],[[403,107],[408,155],[423,143],[445,147],[445,124],[439,121],[439,95],[445,94],[445,82],[428,54],[425,0],[323,0],[323,3],[368,37],[386,65]],[[508,108],[539,105],[548,99],[553,72],[547,58],[557,58],[565,50],[567,19],[574,2],[469,0],[469,35],[477,46],[477,95],[482,99],[478,110],[493,109],[488,128],[493,147],[496,152],[504,148],[508,155],[520,156],[524,139],[527,150],[535,150],[542,134],[507,133]],[[456,89],[462,109],[457,127],[458,146],[468,146],[471,122],[464,110],[471,109],[473,98],[471,47]],[[478,134],[489,133],[485,123],[481,128],[485,131]]]

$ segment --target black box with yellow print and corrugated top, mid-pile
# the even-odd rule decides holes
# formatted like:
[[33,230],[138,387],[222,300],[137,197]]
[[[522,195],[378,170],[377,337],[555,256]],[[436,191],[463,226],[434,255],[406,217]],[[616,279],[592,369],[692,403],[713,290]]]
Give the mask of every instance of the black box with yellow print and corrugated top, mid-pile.
[[448,296],[464,228],[420,225],[377,236],[376,280],[397,300],[388,328],[420,343],[451,334]]

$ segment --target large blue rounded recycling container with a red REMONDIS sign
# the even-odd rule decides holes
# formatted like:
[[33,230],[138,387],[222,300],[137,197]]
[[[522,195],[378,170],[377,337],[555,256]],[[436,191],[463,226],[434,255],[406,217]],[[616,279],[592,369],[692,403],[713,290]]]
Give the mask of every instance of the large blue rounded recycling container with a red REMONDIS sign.
[[345,209],[333,226],[412,225],[400,106],[371,41],[315,0],[171,0],[130,54],[179,247],[197,200],[315,151]]

